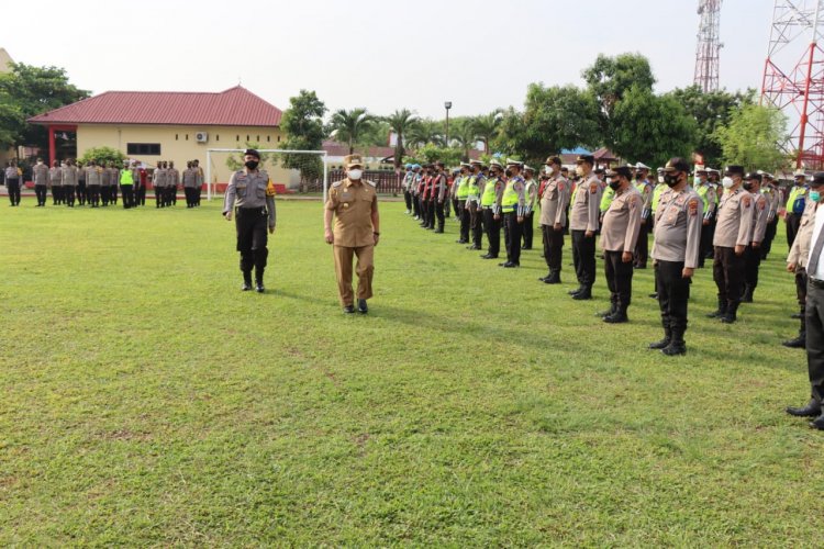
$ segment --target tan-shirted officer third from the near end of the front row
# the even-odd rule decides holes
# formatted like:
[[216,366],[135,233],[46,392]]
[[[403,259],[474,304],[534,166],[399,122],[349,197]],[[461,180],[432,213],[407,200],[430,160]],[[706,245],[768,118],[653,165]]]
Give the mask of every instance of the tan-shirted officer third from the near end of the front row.
[[592,172],[592,155],[581,155],[576,160],[576,175],[580,178],[572,193],[569,229],[572,233],[572,264],[578,277],[578,289],[569,292],[575,300],[592,299],[595,283],[595,233],[599,229],[601,181]]

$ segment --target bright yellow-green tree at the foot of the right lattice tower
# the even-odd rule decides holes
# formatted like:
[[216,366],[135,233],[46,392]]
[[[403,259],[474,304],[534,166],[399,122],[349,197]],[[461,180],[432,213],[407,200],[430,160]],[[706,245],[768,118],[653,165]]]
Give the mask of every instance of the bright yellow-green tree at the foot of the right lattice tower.
[[781,150],[787,142],[787,116],[778,109],[744,104],[732,112],[730,124],[715,131],[715,138],[728,164],[767,171],[788,165]]

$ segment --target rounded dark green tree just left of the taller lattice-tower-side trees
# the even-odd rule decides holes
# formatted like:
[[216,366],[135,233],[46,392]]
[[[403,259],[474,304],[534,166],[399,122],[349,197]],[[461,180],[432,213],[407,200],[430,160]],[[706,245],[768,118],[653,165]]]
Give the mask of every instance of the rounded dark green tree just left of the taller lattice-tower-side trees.
[[671,96],[632,87],[615,104],[608,143],[627,160],[664,166],[672,156],[690,158],[698,126]]

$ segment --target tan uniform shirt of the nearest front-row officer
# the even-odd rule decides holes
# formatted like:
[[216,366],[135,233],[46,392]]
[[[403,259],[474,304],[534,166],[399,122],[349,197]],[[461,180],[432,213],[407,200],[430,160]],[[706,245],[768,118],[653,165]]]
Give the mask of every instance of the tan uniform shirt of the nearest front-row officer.
[[655,219],[653,259],[681,262],[694,269],[699,262],[704,202],[691,187],[661,193]]

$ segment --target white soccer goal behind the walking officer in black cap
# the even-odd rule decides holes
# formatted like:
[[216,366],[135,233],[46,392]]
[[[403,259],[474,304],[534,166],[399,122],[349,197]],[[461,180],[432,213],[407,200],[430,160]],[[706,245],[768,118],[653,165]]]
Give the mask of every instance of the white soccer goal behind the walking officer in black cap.
[[[256,148],[260,153],[259,169],[266,170],[278,194],[301,192],[326,195],[329,188],[329,164],[325,150],[285,150]],[[232,173],[243,169],[243,148],[207,149],[205,183],[207,199],[222,195]]]

